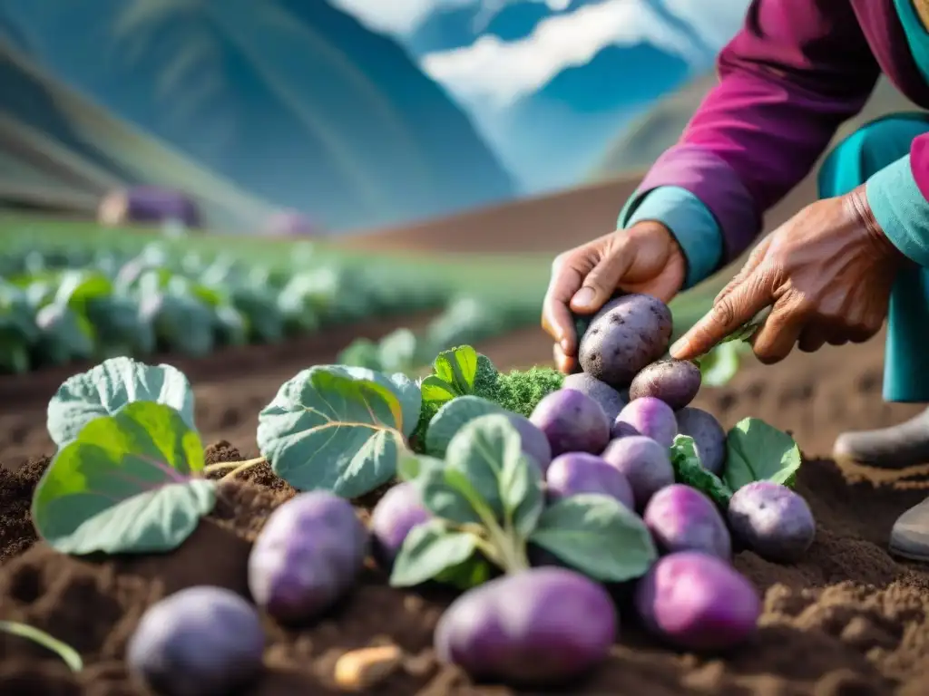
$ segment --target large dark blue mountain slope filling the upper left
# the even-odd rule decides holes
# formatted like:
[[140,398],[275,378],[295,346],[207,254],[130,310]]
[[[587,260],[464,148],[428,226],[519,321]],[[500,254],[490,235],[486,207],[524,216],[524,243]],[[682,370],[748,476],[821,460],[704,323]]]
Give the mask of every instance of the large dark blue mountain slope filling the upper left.
[[515,193],[407,52],[322,0],[4,0],[4,15],[62,82],[330,229]]

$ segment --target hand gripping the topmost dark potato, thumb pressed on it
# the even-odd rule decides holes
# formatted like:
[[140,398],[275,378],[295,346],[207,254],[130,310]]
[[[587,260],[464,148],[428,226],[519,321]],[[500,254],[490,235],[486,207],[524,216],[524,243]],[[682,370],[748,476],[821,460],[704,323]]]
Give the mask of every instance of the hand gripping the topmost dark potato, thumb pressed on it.
[[558,369],[570,372],[578,337],[570,310],[594,313],[617,288],[669,302],[684,284],[687,263],[667,227],[643,221],[560,254],[552,264],[542,326],[555,339]]

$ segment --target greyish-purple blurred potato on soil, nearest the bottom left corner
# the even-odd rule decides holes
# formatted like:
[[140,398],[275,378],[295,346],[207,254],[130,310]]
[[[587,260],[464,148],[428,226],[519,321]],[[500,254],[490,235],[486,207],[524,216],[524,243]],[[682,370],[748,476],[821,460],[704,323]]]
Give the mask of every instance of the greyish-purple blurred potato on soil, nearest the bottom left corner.
[[240,693],[261,674],[265,632],[255,607],[224,587],[187,587],[142,614],[129,671],[164,696]]

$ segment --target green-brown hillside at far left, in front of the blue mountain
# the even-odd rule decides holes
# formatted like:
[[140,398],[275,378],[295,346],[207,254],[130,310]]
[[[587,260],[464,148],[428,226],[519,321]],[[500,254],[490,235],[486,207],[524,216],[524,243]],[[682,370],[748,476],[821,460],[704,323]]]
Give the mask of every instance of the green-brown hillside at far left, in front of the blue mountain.
[[0,207],[92,215],[114,187],[160,184],[188,190],[211,226],[242,231],[268,215],[263,201],[60,84],[8,41],[11,22],[0,27]]

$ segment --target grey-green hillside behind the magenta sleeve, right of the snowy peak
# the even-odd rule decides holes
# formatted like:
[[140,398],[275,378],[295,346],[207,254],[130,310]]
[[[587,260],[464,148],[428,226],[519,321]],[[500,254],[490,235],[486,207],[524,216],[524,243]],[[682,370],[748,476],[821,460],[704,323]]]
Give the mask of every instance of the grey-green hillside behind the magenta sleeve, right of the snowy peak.
[[[715,74],[704,75],[678,92],[654,104],[635,122],[622,128],[606,155],[588,176],[593,181],[608,180],[648,168],[661,153],[670,148],[684,132],[687,122],[713,85]],[[857,130],[862,124],[895,111],[916,110],[909,99],[893,84],[881,79],[864,109],[844,123],[837,138]]]

